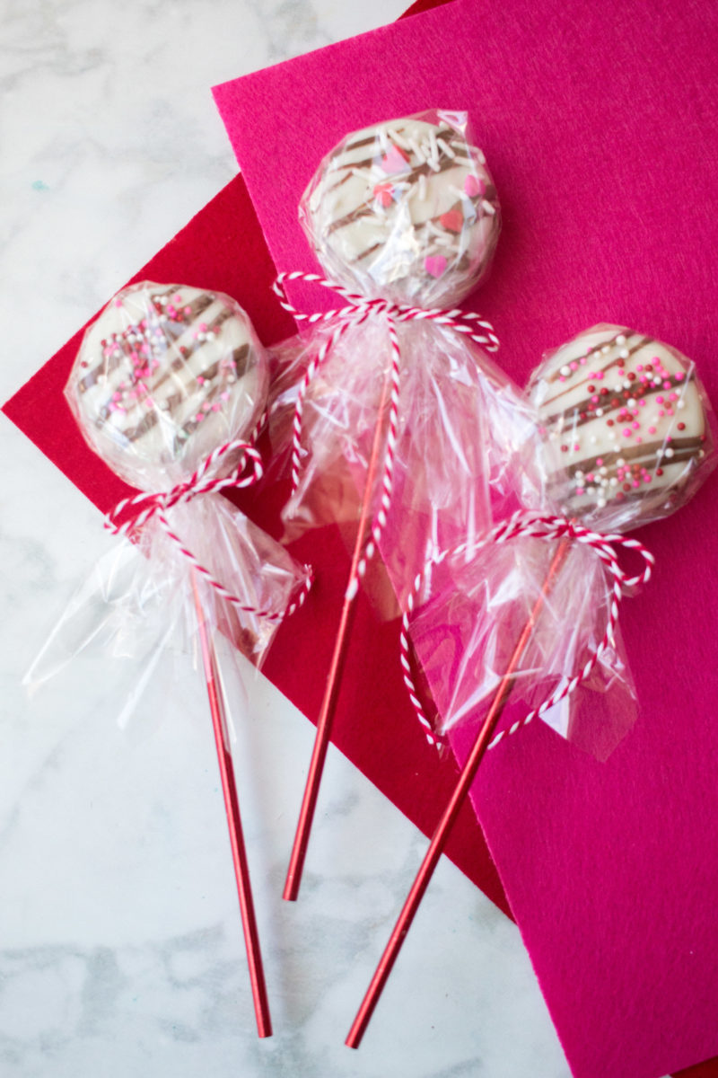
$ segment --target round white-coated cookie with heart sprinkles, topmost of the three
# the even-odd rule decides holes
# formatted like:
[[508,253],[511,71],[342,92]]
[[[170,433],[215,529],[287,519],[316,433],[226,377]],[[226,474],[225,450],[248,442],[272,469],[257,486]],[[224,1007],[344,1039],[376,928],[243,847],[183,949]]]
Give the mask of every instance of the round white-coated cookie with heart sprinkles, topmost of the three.
[[393,120],[343,139],[301,199],[332,279],[365,295],[454,304],[485,274],[501,227],[496,191],[466,115]]

